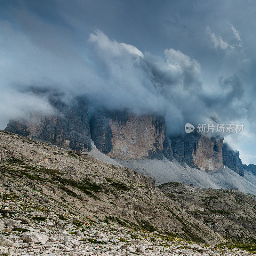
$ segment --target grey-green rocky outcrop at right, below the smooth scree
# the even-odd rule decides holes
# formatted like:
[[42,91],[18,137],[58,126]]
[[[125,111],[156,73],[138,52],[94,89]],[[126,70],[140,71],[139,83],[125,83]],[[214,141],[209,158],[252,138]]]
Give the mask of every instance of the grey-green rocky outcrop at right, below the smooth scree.
[[[181,207],[194,218],[203,221],[221,236],[244,236],[249,240],[254,237],[251,234],[256,231],[256,215],[255,208],[251,206],[256,205],[256,196],[238,189],[201,189],[181,183],[166,183],[159,187],[166,191],[166,196],[180,202]],[[239,230],[241,226],[245,230]]]

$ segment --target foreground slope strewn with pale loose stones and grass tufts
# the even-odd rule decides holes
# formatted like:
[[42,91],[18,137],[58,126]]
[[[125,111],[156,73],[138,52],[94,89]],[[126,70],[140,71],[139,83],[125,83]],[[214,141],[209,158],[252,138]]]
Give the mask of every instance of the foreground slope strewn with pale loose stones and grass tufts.
[[[83,218],[55,204],[0,193],[2,255],[254,255],[253,244],[205,246],[158,232],[124,228]],[[12,199],[10,198],[12,197]],[[238,246],[238,248],[237,248]]]

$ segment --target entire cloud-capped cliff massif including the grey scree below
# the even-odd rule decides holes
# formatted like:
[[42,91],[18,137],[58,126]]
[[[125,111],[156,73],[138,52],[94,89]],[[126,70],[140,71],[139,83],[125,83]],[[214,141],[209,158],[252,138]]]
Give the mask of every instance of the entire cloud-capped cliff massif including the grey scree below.
[[52,115],[31,113],[27,119],[10,120],[5,130],[88,152],[104,162],[153,177],[158,185],[185,182],[199,188],[238,188],[256,194],[256,166],[242,164],[239,152],[223,144],[223,138],[197,132],[167,137],[164,115],[156,113],[100,109],[89,122],[84,100],[61,99],[59,94],[50,94]]

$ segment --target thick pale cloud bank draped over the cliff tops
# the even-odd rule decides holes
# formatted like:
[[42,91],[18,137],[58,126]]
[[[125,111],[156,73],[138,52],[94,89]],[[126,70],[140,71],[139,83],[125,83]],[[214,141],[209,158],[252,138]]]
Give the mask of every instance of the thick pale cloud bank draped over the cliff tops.
[[[63,97],[83,96],[90,109],[166,112],[170,134],[179,133],[188,122],[209,123],[211,116],[221,122],[246,117],[243,85],[236,76],[220,78],[209,93],[200,80],[200,63],[175,49],[163,49],[164,58],[154,56],[97,29],[78,54],[59,35],[44,35],[44,42],[38,42],[7,22],[0,25],[2,129],[8,118],[26,116],[33,108],[51,111],[47,97],[29,93],[30,87],[64,92]],[[233,106],[238,103],[239,111]]]

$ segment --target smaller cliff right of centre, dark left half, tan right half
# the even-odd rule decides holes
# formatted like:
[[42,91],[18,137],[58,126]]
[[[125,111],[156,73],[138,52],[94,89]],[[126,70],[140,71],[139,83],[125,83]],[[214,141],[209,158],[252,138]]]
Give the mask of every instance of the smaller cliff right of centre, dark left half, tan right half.
[[208,138],[199,133],[190,133],[185,137],[171,138],[173,156],[184,166],[201,170],[219,170],[223,168],[223,138]]

